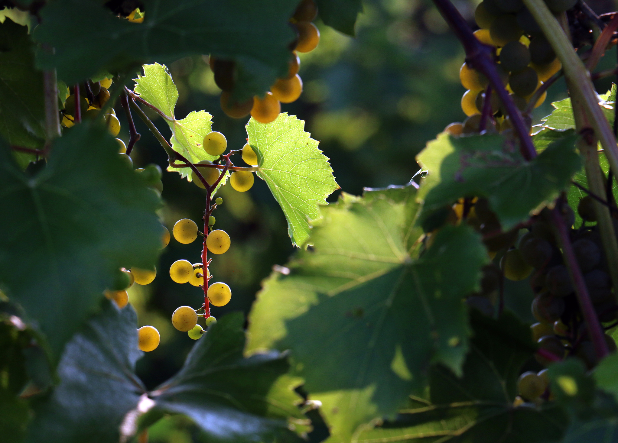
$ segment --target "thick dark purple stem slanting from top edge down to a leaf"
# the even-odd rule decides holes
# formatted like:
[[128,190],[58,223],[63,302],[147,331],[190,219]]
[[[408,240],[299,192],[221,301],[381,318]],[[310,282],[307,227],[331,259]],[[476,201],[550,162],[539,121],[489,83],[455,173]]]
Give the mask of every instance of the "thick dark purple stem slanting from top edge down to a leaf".
[[481,43],[474,36],[472,29],[470,29],[464,17],[457,11],[450,0],[433,0],[433,2],[438,7],[444,20],[449,23],[455,36],[464,46],[466,61],[488,78],[489,84],[496,91],[502,104],[504,104],[513,129],[519,136],[519,149],[522,157],[528,161],[535,158],[535,145],[533,145],[528,133],[528,126],[523,121],[522,112],[515,106],[515,102],[509,96],[509,91],[506,90],[504,83],[502,83],[498,75],[496,63],[494,62],[494,48],[488,44]]

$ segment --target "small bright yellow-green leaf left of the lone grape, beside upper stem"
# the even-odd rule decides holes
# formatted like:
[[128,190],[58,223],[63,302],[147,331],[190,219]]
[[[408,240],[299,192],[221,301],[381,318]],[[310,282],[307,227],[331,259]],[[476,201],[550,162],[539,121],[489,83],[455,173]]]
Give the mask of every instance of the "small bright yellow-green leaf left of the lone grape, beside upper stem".
[[[174,108],[178,99],[178,90],[167,72],[165,65],[158,63],[143,65],[144,75],[135,79],[135,92],[148,103],[161,109],[172,120],[164,119],[172,131],[170,143],[172,148],[192,163],[201,160],[216,160],[218,156],[206,154],[202,143],[206,134],[211,132],[212,116],[206,111],[192,111],[182,120],[174,117]],[[177,171],[181,177],[191,181],[191,169],[167,167],[167,171]]]

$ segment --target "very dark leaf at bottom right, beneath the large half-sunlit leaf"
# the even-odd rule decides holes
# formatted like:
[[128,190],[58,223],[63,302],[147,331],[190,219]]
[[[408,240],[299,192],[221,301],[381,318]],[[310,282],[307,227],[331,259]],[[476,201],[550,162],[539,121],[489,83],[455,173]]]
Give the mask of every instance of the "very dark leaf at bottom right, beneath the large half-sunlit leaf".
[[412,399],[396,420],[360,432],[355,442],[535,443],[562,436],[566,417],[555,404],[512,407],[520,368],[534,352],[528,326],[508,311],[497,320],[471,314],[463,377],[433,366],[430,401]]

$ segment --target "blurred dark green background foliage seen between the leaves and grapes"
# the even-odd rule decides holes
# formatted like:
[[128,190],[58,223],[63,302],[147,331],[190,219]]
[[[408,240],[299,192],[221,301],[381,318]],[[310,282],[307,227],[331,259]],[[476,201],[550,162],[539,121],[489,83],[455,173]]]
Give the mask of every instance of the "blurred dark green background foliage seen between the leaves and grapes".
[[[478,2],[454,3],[476,28],[472,17]],[[589,4],[598,14],[614,9],[607,0]],[[459,104],[465,91],[459,83],[459,68],[464,62],[460,44],[427,0],[365,0],[356,38],[319,22],[318,27],[320,45],[311,53],[300,54],[303,94],[295,103],[283,104],[282,111],[307,121],[305,130],[320,140],[320,149],[331,159],[343,191],[358,195],[363,187],[406,184],[418,170],[415,155],[426,141],[447,124],[465,118]],[[598,70],[611,69],[615,61],[614,49]],[[242,148],[244,121],[230,119],[219,108],[221,91],[214,83],[208,56],[186,57],[169,69],[179,90],[176,117],[205,109],[213,115],[213,130],[226,135],[229,148]],[[598,91],[605,92],[612,80],[599,81]],[[552,101],[565,96],[564,82],[553,85],[548,99],[535,110],[535,122],[551,112]],[[120,137],[128,141],[122,108],[119,104],[115,108],[123,122]],[[169,137],[163,120],[155,114],[150,117]],[[135,167],[151,162],[166,167],[164,151],[155,137],[141,121],[136,124],[142,139],[133,150]],[[240,158],[235,161],[242,164]],[[180,218],[201,219],[203,190],[174,172],[163,175],[163,184],[165,205],[160,215],[170,230]],[[334,193],[329,201],[338,195]],[[264,182],[256,180],[246,193],[226,186],[219,196],[224,204],[214,213],[216,227],[230,234],[232,247],[214,257],[211,273],[214,281],[230,285],[232,301],[213,308],[213,315],[237,310],[246,314],[260,282],[274,265],[286,263],[293,248],[281,209]],[[172,376],[193,345],[187,334],[172,327],[170,318],[177,306],[200,306],[203,295],[198,287],[172,282],[168,269],[177,259],[199,261],[200,250],[198,242],[182,245],[172,237],[159,260],[158,278],[150,285],[133,285],[129,291],[140,326],[151,324],[161,333],[161,345],[138,362],[138,374],[149,388]],[[151,429],[151,442],[191,442],[194,431],[185,421],[177,417],[162,420]]]

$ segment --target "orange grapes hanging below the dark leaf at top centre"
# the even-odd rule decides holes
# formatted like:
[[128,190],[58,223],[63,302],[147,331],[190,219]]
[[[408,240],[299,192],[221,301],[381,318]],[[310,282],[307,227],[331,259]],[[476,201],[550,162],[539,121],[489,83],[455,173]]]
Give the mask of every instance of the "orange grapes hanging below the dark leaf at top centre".
[[263,97],[254,96],[239,103],[232,98],[236,84],[236,66],[234,61],[209,57],[208,63],[214,73],[214,82],[221,88],[221,109],[235,119],[251,114],[260,123],[270,123],[279,116],[281,103],[292,103],[303,91],[303,81],[298,75],[300,59],[297,53],[308,53],[320,43],[320,31],[312,23],[318,15],[318,7],[314,0],[302,0],[298,5],[290,23],[297,33],[286,75],[277,78]]

